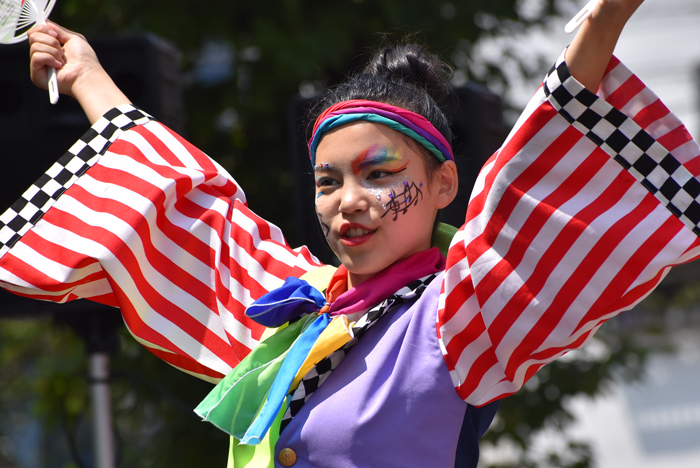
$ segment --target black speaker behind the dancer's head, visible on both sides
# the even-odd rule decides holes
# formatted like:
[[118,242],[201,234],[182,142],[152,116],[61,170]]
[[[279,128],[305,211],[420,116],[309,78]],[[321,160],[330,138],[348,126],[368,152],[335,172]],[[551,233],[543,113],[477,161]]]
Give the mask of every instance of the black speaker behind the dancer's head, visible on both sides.
[[[454,134],[452,146],[459,174],[459,191],[455,200],[442,210],[440,220],[459,227],[464,224],[476,176],[481,166],[501,146],[506,133],[499,96],[471,83],[454,88],[454,95],[455,99],[446,112]],[[311,128],[307,128],[305,121],[312,103],[313,99],[296,96],[288,108],[296,227],[290,242],[295,246],[306,245],[321,261],[333,263],[335,256],[318,226],[314,208],[314,177],[307,148]]]

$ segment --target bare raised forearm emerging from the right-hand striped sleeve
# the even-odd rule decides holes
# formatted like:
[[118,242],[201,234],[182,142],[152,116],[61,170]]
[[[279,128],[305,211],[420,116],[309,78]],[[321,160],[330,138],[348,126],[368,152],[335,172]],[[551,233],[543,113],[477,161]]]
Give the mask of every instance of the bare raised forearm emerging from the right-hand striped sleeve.
[[644,0],[600,0],[566,53],[569,71],[589,91],[598,91],[627,21]]

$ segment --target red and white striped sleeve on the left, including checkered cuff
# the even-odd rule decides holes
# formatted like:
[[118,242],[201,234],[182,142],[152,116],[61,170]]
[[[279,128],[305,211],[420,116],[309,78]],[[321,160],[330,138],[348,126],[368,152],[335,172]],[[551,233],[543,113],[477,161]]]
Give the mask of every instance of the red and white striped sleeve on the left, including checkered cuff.
[[204,153],[132,106],[108,112],[0,216],[0,285],[119,307],[170,364],[216,381],[257,344],[256,298],[319,262]]

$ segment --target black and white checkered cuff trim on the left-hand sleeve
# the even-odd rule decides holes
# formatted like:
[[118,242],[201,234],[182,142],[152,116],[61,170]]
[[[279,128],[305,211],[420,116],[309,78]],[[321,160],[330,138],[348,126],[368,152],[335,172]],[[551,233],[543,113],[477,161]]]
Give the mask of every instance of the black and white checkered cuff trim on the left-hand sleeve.
[[56,200],[92,167],[119,135],[153,117],[132,105],[115,107],[0,215],[0,257],[34,226]]

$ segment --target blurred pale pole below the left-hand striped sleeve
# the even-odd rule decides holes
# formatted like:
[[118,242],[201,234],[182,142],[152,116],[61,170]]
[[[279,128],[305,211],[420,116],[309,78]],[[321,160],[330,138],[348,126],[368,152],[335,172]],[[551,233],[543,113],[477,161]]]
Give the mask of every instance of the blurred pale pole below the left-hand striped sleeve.
[[90,353],[90,397],[95,468],[115,468],[109,354]]

